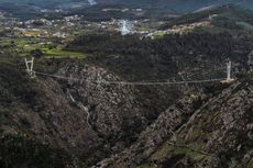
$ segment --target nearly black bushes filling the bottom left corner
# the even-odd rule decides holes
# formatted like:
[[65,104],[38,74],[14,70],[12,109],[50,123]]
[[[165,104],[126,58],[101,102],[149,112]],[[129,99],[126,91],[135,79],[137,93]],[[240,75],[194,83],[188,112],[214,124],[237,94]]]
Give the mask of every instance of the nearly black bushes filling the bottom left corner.
[[[22,163],[22,165],[20,165]],[[75,158],[63,149],[52,148],[22,136],[0,137],[0,165],[2,168],[76,166]]]

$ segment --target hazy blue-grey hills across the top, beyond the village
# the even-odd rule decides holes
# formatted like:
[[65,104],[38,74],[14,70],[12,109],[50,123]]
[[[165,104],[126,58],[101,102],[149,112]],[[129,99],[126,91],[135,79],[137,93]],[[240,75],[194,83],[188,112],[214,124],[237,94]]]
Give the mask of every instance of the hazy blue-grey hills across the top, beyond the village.
[[[141,20],[145,19],[157,19],[157,20],[168,20],[172,21],[169,25],[175,25],[179,23],[189,23],[193,21],[207,20],[209,13],[212,15],[219,14],[218,22],[222,24],[234,24],[239,20],[248,20],[252,18],[251,9],[252,2],[243,1],[227,3],[218,1],[0,1],[0,10],[4,12],[12,13],[14,18],[19,19],[34,19],[34,18],[63,18],[69,14],[80,14],[85,15],[86,20],[94,21],[105,21],[114,19],[130,19],[130,20]],[[226,7],[229,7],[227,9]],[[134,9],[142,9],[142,12],[136,12]],[[240,9],[241,8],[241,9]],[[245,9],[243,9],[245,8]],[[26,10],[29,9],[29,10]],[[41,12],[42,9],[63,9],[62,13],[44,13]],[[105,10],[109,10],[105,12]],[[113,9],[113,10],[112,10]],[[128,9],[122,12],[122,10]],[[132,10],[129,10],[132,9]],[[51,11],[52,12],[52,11]],[[169,14],[183,14],[182,18],[174,21],[172,18],[167,16]],[[217,23],[217,24],[219,24]],[[245,26],[244,23],[239,23],[241,26]],[[249,27],[249,26],[248,26]]]

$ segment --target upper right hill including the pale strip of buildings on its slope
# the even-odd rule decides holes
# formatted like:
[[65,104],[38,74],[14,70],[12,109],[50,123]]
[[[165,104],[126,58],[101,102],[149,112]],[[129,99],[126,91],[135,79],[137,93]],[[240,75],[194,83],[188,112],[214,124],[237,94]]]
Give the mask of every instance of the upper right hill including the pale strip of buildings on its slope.
[[[253,11],[241,5],[227,4],[184,14],[161,26],[161,30],[191,27],[196,31],[252,34]],[[197,26],[197,25],[200,26]],[[196,29],[194,29],[196,27]]]

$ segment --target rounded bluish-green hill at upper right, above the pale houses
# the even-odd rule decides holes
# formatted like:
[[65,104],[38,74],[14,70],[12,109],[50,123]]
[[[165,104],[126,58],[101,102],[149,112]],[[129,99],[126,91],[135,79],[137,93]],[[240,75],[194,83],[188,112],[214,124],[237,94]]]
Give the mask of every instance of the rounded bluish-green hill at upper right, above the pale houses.
[[[211,16],[211,19],[210,19]],[[216,30],[227,30],[235,32],[253,31],[253,10],[242,5],[226,4],[220,7],[202,8],[200,10],[187,13],[166,23],[161,29],[167,30],[174,25],[193,24],[208,21]],[[215,29],[210,29],[213,31]]]

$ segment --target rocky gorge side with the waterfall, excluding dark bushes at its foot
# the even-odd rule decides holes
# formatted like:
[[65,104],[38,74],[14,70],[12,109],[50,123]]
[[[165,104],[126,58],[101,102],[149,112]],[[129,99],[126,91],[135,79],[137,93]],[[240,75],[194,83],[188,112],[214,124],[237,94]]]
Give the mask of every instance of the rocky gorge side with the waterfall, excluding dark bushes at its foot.
[[120,80],[102,68],[67,65],[57,74],[84,79],[78,81],[40,75],[29,79],[4,66],[1,71],[0,130],[4,136],[50,144],[89,165],[122,150],[147,124],[148,111],[135,98],[136,90],[99,83]]

